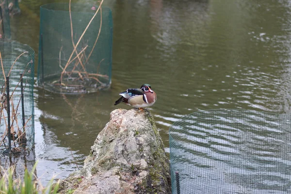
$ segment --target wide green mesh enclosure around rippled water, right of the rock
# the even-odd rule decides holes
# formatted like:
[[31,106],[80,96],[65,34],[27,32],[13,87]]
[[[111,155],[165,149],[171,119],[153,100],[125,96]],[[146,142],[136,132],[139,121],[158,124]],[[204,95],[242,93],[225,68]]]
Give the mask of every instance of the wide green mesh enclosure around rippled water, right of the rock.
[[169,129],[173,194],[290,194],[291,115],[210,110]]

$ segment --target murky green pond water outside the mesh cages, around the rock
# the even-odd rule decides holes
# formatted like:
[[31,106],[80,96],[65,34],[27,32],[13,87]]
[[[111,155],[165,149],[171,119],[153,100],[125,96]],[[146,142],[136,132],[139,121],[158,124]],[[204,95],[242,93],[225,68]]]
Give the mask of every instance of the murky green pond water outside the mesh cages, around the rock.
[[[23,0],[12,39],[38,52],[39,6]],[[64,1],[64,0],[62,0]],[[67,2],[67,1],[64,1]],[[81,1],[78,1],[81,2]],[[93,3],[94,1],[86,1]],[[169,152],[168,129],[199,110],[289,113],[289,0],[105,0],[113,13],[112,86],[69,96],[34,90],[37,175],[64,178],[89,154],[116,108],[118,93],[149,83],[150,108]]]

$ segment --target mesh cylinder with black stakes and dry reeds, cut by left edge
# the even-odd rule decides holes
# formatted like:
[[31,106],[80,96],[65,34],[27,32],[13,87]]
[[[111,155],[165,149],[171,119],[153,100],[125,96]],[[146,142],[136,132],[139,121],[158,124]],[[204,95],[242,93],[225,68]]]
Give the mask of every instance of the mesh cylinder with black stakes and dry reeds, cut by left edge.
[[0,157],[19,154],[34,144],[34,51],[0,41]]

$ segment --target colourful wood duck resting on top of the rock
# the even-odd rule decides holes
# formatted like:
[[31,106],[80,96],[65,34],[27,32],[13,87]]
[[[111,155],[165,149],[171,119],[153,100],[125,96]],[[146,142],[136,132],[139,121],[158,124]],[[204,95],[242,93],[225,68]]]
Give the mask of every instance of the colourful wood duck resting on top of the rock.
[[140,111],[143,111],[145,107],[152,106],[157,100],[157,95],[149,84],[143,84],[141,88],[137,89],[127,89],[119,95],[122,97],[116,100],[114,105],[124,102],[129,106],[138,108]]

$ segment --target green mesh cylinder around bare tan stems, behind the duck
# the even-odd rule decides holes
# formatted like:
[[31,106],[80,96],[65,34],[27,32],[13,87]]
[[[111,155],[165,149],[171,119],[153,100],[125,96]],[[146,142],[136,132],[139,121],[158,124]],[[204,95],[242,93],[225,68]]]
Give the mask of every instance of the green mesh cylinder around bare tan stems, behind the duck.
[[63,94],[95,92],[110,86],[112,14],[102,6],[85,31],[96,11],[92,5],[72,4],[71,31],[68,3],[40,7],[38,86]]

